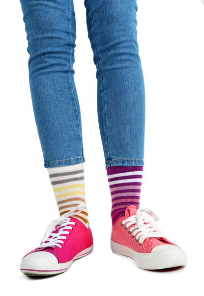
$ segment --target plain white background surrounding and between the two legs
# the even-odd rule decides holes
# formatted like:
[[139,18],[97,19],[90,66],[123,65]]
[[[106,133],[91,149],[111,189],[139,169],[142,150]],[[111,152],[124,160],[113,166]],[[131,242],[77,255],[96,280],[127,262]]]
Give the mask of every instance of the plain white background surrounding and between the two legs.
[[150,272],[110,250],[111,197],[96,111],[96,78],[83,0],[75,0],[74,69],[85,148],[91,255],[56,277],[21,274],[58,209],[29,93],[27,40],[18,0],[0,2],[0,248],[3,295],[204,295],[204,0],[138,0],[146,83],[141,205],[188,254],[186,268]]

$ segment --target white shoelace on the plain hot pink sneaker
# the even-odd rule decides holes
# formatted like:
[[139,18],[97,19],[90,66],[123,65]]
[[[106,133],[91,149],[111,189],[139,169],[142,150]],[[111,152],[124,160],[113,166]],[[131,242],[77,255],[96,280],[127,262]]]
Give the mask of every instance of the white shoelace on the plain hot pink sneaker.
[[[42,243],[38,247],[38,249],[42,250],[48,247],[54,248],[55,246],[61,249],[62,248],[61,245],[64,245],[63,240],[67,240],[67,237],[62,234],[70,235],[70,232],[68,230],[72,230],[73,229],[72,225],[76,225],[75,222],[70,222],[71,217],[76,215],[77,213],[82,212],[84,208],[85,208],[85,205],[80,204],[76,208],[70,210],[68,213],[65,213],[63,216],[61,216],[57,220],[51,222],[47,227],[45,235],[42,239]],[[58,226],[58,233],[53,232],[56,229],[56,226]]]

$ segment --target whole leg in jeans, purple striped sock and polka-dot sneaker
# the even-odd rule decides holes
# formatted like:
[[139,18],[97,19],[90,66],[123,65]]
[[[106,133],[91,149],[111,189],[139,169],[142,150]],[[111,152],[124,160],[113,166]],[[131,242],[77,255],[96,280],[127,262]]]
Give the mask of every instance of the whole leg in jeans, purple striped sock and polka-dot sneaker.
[[144,269],[185,265],[185,252],[168,241],[148,215],[155,221],[157,216],[139,208],[145,88],[137,43],[136,0],[85,0],[85,5],[97,67],[99,126],[112,195],[112,250],[132,257]]

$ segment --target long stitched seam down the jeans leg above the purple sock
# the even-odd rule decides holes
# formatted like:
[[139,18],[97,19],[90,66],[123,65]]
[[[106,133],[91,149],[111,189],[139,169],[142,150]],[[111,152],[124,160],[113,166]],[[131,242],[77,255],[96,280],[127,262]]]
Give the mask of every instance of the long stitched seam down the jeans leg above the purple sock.
[[108,142],[108,128],[107,128],[107,118],[106,118],[106,102],[105,102],[105,91],[104,91],[104,79],[103,79],[103,72],[101,70],[101,67],[100,67],[100,56],[98,54],[98,45],[97,45],[97,42],[96,42],[96,34],[95,34],[95,31],[94,31],[94,20],[93,20],[93,13],[92,13],[92,4],[91,4],[91,0],[89,0],[89,4],[90,4],[90,14],[91,14],[91,18],[92,18],[92,31],[93,31],[93,37],[94,37],[94,42],[95,42],[95,45],[96,45],[96,55],[98,57],[98,69],[101,73],[101,79],[102,79],[102,92],[103,92],[103,104],[104,104],[104,115],[105,115],[105,128],[106,128],[106,143],[107,143],[107,148],[108,148],[108,156],[109,156],[109,159],[111,159],[111,156],[110,156],[110,148],[109,148],[109,142]]

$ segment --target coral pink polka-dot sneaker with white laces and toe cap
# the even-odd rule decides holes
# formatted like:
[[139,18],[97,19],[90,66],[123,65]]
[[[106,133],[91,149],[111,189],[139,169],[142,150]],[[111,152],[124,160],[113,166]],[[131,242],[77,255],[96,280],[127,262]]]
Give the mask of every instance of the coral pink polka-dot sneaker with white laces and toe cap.
[[[142,215],[144,212],[148,216]],[[156,224],[158,220],[149,209],[129,206],[125,217],[119,218],[112,229],[112,251],[131,257],[143,269],[186,265],[185,252],[163,235]]]

